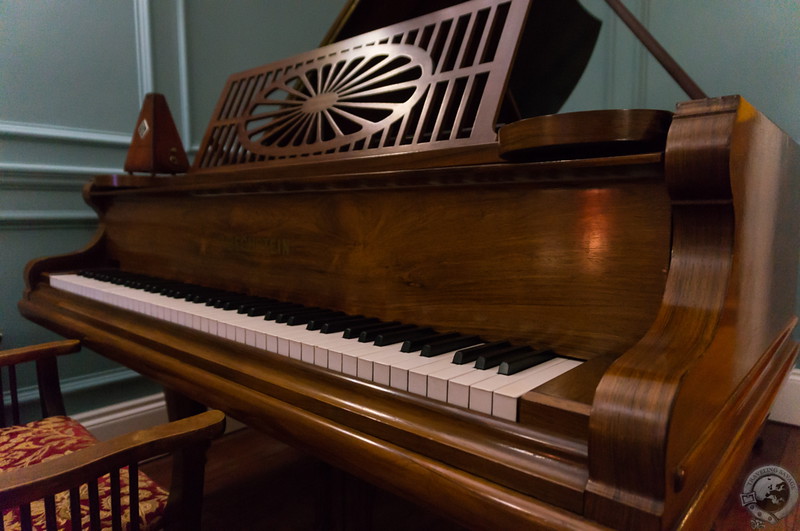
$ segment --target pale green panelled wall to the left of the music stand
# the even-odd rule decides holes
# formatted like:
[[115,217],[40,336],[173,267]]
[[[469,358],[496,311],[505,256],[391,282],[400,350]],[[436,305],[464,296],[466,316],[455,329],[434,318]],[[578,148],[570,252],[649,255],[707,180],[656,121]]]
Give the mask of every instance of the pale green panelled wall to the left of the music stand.
[[[23,268],[89,241],[96,218],[81,187],[121,171],[144,93],[166,94],[196,149],[229,74],[316,47],[343,4],[0,0],[3,347],[56,337],[17,312]],[[71,413],[158,389],[90,352],[61,369]]]

